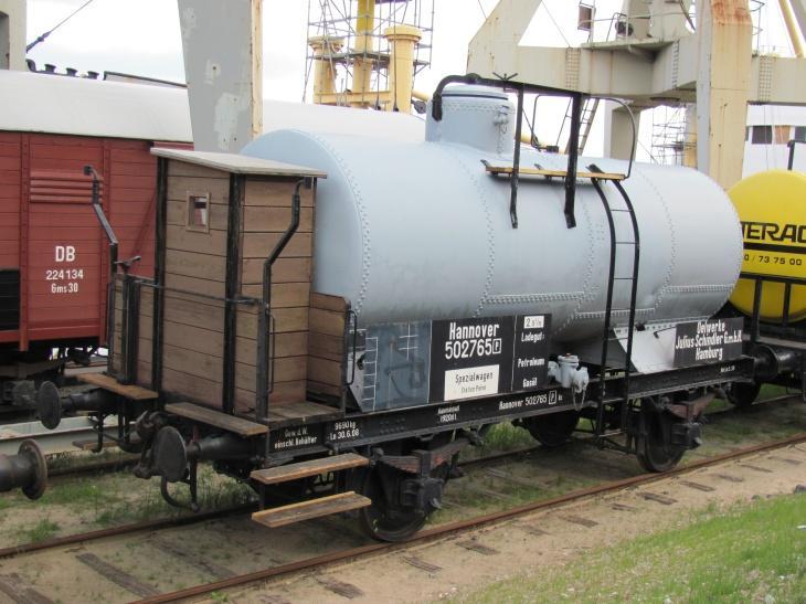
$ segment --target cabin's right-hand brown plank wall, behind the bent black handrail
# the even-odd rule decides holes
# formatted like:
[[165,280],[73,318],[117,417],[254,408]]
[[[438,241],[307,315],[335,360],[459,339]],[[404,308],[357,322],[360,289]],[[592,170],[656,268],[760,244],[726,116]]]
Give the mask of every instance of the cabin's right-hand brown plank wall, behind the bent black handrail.
[[[243,296],[262,297],[263,264],[290,225],[296,182],[297,179],[290,178],[246,181],[241,240]],[[306,398],[314,194],[312,189],[300,190],[299,226],[272,268],[275,360],[269,404],[273,406]],[[235,410],[242,414],[253,413],[255,407],[257,311],[257,307],[237,310]]]

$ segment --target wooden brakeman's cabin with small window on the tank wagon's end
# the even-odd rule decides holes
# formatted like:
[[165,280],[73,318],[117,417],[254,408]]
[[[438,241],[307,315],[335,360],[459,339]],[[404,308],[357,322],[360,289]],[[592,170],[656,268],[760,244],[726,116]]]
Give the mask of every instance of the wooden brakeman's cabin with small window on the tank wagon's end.
[[156,278],[119,279],[118,380],[272,425],[343,411],[349,305],[311,292],[316,183],[326,174],[240,155],[152,152]]

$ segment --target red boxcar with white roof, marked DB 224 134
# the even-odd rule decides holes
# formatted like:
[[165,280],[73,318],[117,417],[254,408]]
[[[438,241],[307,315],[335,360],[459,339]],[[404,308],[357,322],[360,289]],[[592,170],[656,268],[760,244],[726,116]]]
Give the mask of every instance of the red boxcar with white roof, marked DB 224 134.
[[91,205],[92,166],[118,257],[153,272],[155,141],[190,140],[183,89],[0,72],[0,401],[53,371],[54,348],[106,337],[108,243]]

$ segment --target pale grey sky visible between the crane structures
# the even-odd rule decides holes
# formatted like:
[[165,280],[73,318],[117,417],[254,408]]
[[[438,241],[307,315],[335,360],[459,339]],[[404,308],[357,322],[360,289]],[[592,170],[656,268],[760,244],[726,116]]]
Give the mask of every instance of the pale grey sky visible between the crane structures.
[[[222,0],[223,1],[223,0]],[[590,1],[590,0],[588,0]],[[28,0],[28,40],[51,29],[84,0]],[[315,1],[317,3],[318,0]],[[431,68],[417,78],[418,89],[431,92],[444,76],[464,73],[467,44],[497,0],[434,0],[434,50]],[[524,36],[524,43],[565,46],[581,42],[576,32],[576,0],[544,0]],[[598,18],[621,8],[621,0],[596,0]],[[777,2],[768,1],[761,20],[761,45],[789,54]],[[307,52],[308,0],[264,0],[263,52],[264,95],[300,100]],[[562,33],[560,32],[562,30]],[[150,77],[183,81],[182,47],[176,0],[94,0],[29,54],[38,65],[127,72]],[[541,114],[556,116],[539,128],[551,141],[562,120],[563,107],[541,107]],[[596,120],[587,149],[601,153],[602,124]],[[641,139],[648,142],[651,119],[644,120]]]

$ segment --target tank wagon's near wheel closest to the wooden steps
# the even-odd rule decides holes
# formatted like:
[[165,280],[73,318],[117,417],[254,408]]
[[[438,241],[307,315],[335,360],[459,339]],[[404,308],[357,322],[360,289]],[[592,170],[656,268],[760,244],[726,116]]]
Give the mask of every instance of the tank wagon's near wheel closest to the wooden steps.
[[372,505],[359,512],[361,528],[380,541],[404,541],[425,524],[428,515],[423,510],[403,508],[390,502],[400,492],[403,474],[381,466],[364,474],[362,495]]

